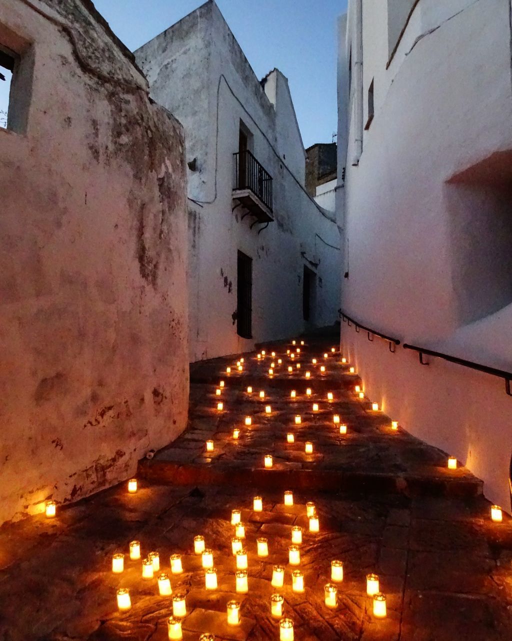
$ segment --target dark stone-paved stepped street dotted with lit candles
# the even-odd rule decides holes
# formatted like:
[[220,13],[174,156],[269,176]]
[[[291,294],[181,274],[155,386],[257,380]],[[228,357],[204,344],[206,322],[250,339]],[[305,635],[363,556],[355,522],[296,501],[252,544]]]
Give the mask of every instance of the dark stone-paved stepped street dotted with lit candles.
[[[330,358],[339,360],[339,354]],[[391,430],[388,417],[355,397],[353,386],[361,383],[339,365],[332,365],[324,383],[311,383],[319,414],[307,410],[315,400],[303,398],[305,381],[295,377],[300,395],[292,402],[285,375],[269,381],[255,363],[242,376],[221,376],[225,410],[218,413],[212,407],[226,362],[232,360],[193,370],[189,429],[141,465],[136,494],[123,483],[58,506],[54,519],[41,515],[0,529],[0,639],[167,639],[173,597],[159,595],[156,576],[142,578],[141,560],[129,558],[132,540],[140,541],[142,558],[159,553],[173,595],[185,596],[180,621],[186,641],[202,633],[225,641],[278,640],[279,619],[271,616],[275,593],[284,597],[296,641],[512,638],[512,522],[507,515],[492,522],[477,479],[463,469],[448,472],[446,454],[401,428]],[[243,389],[251,382],[253,395],[262,388],[269,400],[247,397]],[[335,400],[328,403],[331,386]],[[270,417],[255,411],[262,403],[271,404]],[[305,420],[295,428],[291,419],[297,413]],[[348,425],[346,436],[332,423],[333,413]],[[240,424],[245,415],[255,419],[250,428]],[[234,426],[241,429],[236,444]],[[283,444],[288,431],[296,435],[291,448]],[[209,437],[214,456],[205,454]],[[303,451],[307,438],[314,442],[312,457]],[[172,451],[179,456],[170,456]],[[282,468],[264,469],[262,453],[271,453]],[[337,476],[346,469],[355,476]],[[300,483],[294,483],[296,474],[303,475]],[[292,505],[285,505],[284,488],[293,492]],[[255,495],[262,498],[260,512],[253,509]],[[318,533],[309,531],[307,502],[315,505]],[[246,593],[236,592],[232,510],[241,511],[245,524]],[[300,565],[294,566],[289,546],[297,527],[303,542],[297,545]],[[212,550],[216,590],[205,589],[202,554],[194,551],[197,535]],[[257,538],[267,539],[268,556],[258,555]],[[125,554],[122,574],[111,571],[114,553]],[[181,574],[170,571],[172,554],[181,555]],[[344,576],[335,583],[337,607],[328,608],[324,587],[332,583],[333,560],[343,562]],[[275,565],[284,567],[283,587],[271,585]],[[292,590],[294,569],[303,572],[303,592]],[[385,619],[372,613],[369,573],[378,574],[387,597]],[[120,587],[129,588],[127,612],[116,607]],[[239,626],[227,624],[227,603],[233,600],[241,605]]]

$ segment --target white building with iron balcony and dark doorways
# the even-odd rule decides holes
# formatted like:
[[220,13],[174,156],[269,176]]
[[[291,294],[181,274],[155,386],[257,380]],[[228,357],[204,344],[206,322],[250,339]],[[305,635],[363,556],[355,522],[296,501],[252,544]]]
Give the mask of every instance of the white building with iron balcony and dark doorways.
[[213,1],[135,55],[186,131],[190,360],[333,324],[339,231],[305,191],[285,76],[259,81]]

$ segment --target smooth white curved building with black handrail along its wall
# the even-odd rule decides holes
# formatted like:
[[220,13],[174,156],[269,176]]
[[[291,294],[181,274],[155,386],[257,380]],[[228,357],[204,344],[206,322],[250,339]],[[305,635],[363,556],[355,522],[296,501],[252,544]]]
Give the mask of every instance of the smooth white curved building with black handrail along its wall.
[[512,371],[510,12],[510,0],[349,0],[337,190],[342,308],[401,341],[393,354],[342,324],[365,392],[506,507],[506,375],[422,366],[403,344]]

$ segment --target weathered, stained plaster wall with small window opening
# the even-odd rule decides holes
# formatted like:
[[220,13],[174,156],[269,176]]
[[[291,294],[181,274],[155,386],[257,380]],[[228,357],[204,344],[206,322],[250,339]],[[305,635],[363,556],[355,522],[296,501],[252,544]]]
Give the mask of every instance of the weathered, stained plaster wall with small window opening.
[[176,437],[188,347],[180,124],[85,0],[0,4],[33,65],[26,130],[0,129],[3,521]]

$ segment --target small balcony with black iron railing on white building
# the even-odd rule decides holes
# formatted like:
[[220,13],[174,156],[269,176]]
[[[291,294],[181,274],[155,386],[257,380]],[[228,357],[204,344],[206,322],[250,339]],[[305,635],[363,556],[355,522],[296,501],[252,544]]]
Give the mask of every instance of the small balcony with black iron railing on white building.
[[233,156],[236,172],[233,199],[243,204],[257,222],[272,222],[272,176],[250,151]]

